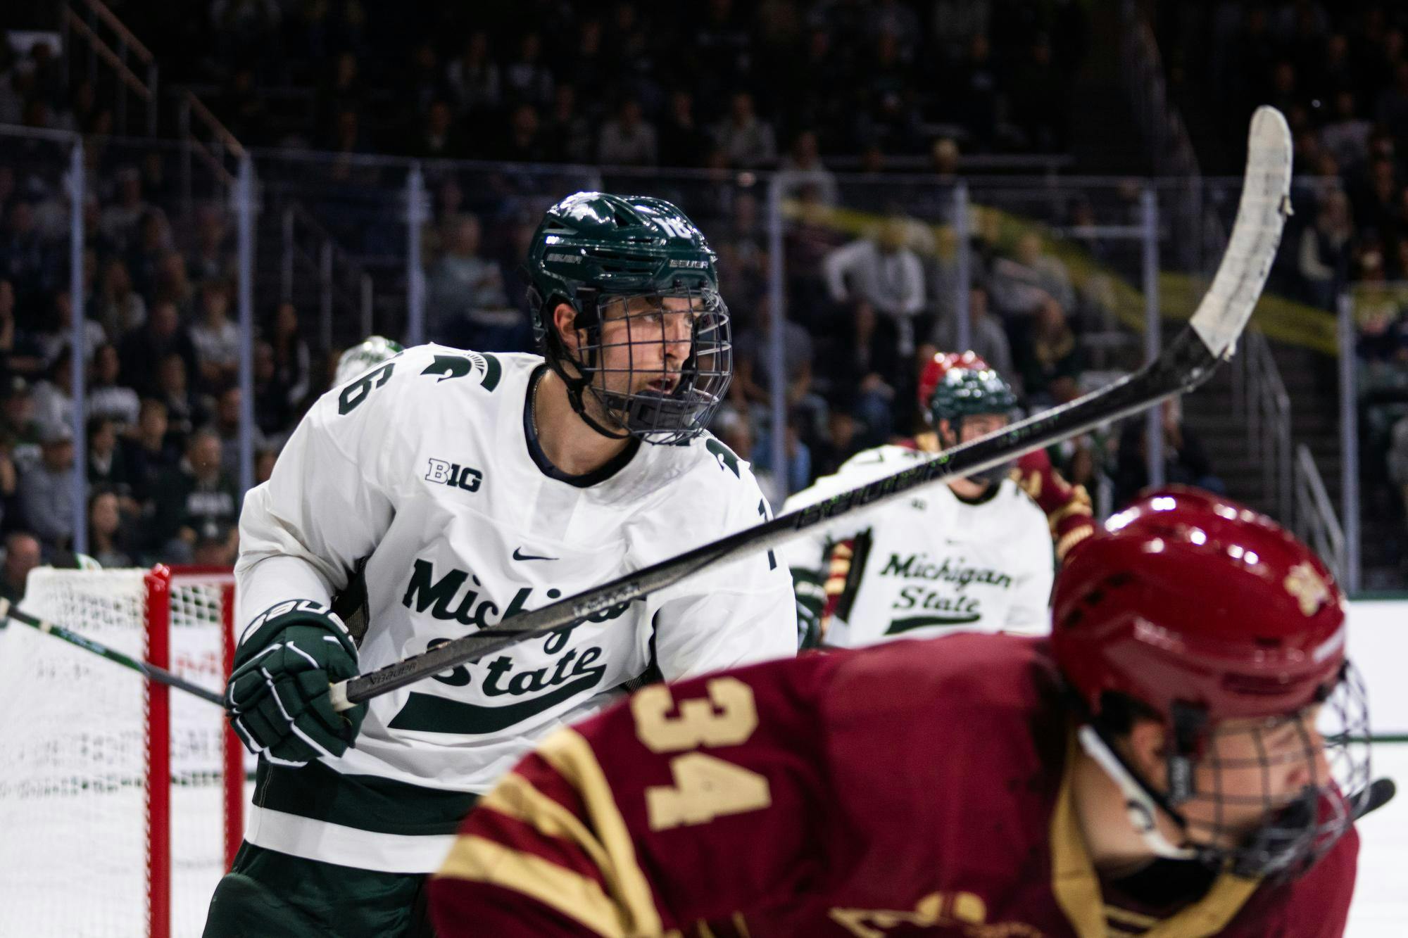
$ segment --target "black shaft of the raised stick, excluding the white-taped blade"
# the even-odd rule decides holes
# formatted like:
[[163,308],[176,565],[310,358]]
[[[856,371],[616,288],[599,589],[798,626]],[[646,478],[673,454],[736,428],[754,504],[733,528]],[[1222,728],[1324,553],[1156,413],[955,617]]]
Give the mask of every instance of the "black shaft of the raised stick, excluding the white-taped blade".
[[1211,376],[1217,365],[1218,359],[1197,334],[1191,328],[1184,328],[1157,359],[1108,387],[1028,417],[981,439],[946,449],[934,459],[893,476],[738,531],[635,573],[627,573],[586,593],[522,613],[511,620],[511,627],[504,623],[334,684],[334,706],[344,710],[529,638],[563,627],[570,628],[587,615],[660,590],[704,568],[766,551],[836,515],[881,504],[919,486],[969,476],[1100,424],[1138,413],[1164,397],[1197,387]]

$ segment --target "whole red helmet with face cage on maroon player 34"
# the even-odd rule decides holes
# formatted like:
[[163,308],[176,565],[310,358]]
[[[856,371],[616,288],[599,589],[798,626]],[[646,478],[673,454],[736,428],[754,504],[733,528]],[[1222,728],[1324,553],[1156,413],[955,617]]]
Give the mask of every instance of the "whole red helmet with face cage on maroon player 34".
[[[1156,853],[1294,876],[1349,830],[1370,766],[1363,684],[1345,658],[1345,597],[1274,521],[1195,489],[1145,496],[1066,556],[1052,607],[1053,655],[1086,711],[1081,745]],[[1107,706],[1121,699],[1167,728],[1162,789],[1119,755],[1117,737],[1138,715]],[[1311,713],[1318,741],[1304,728]],[[1271,784],[1264,745],[1283,724],[1300,734],[1293,765],[1324,777],[1290,800]],[[1226,755],[1238,738],[1259,755]],[[1159,832],[1160,808],[1188,838],[1181,846]],[[1259,825],[1242,830],[1232,811],[1253,811],[1243,818]]]

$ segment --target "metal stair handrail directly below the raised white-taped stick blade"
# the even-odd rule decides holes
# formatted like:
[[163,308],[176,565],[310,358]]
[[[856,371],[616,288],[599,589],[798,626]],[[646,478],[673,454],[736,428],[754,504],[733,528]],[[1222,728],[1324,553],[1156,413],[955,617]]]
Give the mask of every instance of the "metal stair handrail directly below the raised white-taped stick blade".
[[1232,359],[1233,411],[1246,420],[1247,456],[1260,463],[1262,494],[1281,520],[1291,517],[1291,397],[1266,337],[1247,330]]

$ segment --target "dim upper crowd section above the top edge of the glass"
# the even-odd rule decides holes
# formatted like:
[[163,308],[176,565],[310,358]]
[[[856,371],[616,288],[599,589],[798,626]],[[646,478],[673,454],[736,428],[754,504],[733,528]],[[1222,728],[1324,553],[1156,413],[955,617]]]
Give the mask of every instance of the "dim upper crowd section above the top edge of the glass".
[[1087,44],[1077,0],[111,6],[248,145],[515,162],[1060,152]]

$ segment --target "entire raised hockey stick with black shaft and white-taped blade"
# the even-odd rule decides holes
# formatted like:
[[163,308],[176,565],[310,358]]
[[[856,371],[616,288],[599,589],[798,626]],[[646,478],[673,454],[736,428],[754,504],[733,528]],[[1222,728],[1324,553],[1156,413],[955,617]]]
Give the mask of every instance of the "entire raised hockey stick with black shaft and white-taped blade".
[[586,593],[521,613],[511,620],[511,628],[500,624],[335,683],[331,690],[334,707],[346,710],[535,635],[572,628],[589,615],[679,583],[707,568],[777,546],[800,531],[848,511],[881,504],[918,486],[969,476],[1193,390],[1232,354],[1252,317],[1290,214],[1290,185],[1291,135],[1286,118],[1273,107],[1260,107],[1252,117],[1236,223],[1212,286],[1193,314],[1193,321],[1139,372],[1000,432],[946,449],[893,476],[627,573]]

